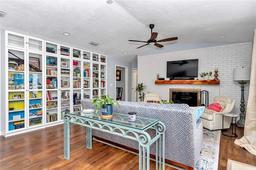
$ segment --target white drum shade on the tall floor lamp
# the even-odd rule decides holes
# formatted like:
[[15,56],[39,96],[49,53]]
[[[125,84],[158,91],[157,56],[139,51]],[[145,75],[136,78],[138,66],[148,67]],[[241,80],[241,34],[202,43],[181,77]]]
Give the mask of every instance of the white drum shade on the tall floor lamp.
[[251,68],[233,69],[233,81],[249,81]]

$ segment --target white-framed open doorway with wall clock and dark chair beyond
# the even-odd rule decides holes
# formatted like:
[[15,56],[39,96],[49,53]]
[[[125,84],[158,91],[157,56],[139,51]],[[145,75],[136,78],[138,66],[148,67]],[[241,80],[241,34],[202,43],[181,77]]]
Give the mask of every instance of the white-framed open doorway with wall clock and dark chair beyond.
[[[116,87],[122,87],[122,101],[128,101],[128,67],[116,65],[116,70],[120,71],[120,77],[116,79]],[[115,87],[115,89],[116,89]],[[116,90],[117,96],[117,90]]]

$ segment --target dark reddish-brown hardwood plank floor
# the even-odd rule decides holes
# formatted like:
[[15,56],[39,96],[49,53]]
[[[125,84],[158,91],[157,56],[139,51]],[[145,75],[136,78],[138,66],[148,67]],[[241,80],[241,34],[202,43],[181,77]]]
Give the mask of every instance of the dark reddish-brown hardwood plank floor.
[[[244,128],[237,127],[237,138]],[[4,138],[0,136],[1,170],[136,170],[138,155],[92,142],[86,148],[86,128],[70,125],[70,160],[63,157],[63,125]],[[226,133],[230,132],[229,130]],[[234,144],[235,138],[221,135],[218,170],[226,170],[227,160],[256,166],[256,156]],[[166,170],[176,170],[165,166]],[[150,169],[155,169],[151,160]]]

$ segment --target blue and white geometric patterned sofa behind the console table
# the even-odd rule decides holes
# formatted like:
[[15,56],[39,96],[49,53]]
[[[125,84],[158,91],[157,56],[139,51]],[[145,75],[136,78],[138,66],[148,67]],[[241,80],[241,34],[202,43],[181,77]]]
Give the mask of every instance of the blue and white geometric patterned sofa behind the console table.
[[[113,113],[128,114],[136,112],[139,117],[160,119],[166,126],[165,158],[166,162],[182,168],[195,168],[202,149],[202,121],[196,121],[194,109],[187,104],[158,104],[146,102],[118,101],[120,108],[113,105]],[[92,99],[81,100],[82,109],[96,109]],[[98,108],[101,111],[101,108]],[[148,130],[153,134],[153,130]],[[117,143],[138,150],[138,142],[92,129],[94,137]],[[150,154],[155,155],[155,145],[150,146]]]

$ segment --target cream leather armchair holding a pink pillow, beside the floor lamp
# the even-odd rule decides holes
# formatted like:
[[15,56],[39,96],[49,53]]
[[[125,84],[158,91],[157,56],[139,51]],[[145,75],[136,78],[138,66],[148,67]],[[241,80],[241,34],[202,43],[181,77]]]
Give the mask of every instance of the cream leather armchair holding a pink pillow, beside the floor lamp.
[[[214,104],[216,103],[220,103],[223,110],[212,111],[211,109],[208,109],[211,107],[211,103],[208,108],[204,109],[204,112],[199,118],[203,121],[203,127],[209,130],[222,129],[222,115],[225,113],[233,113],[236,100],[232,99],[231,97],[216,96],[214,97]],[[224,129],[230,128],[231,119],[231,117],[224,117]]]

